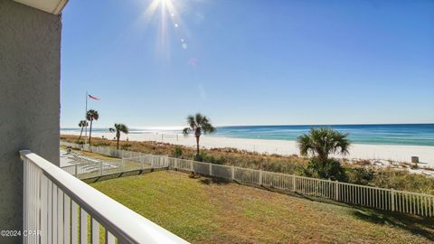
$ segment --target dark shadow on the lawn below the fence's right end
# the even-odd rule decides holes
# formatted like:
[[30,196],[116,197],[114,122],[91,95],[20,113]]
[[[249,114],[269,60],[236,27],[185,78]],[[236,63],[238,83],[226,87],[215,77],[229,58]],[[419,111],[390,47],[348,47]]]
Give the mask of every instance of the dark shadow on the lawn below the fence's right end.
[[409,231],[434,241],[434,218],[402,214],[392,211],[379,211],[373,209],[351,206],[352,214],[357,219],[382,224]]

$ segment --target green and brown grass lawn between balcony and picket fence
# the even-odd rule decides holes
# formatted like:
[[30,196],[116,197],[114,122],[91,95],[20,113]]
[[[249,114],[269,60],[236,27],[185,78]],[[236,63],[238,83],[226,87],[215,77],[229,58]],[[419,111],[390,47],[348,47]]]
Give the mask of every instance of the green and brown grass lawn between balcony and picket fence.
[[160,171],[90,183],[193,243],[431,243],[434,218]]

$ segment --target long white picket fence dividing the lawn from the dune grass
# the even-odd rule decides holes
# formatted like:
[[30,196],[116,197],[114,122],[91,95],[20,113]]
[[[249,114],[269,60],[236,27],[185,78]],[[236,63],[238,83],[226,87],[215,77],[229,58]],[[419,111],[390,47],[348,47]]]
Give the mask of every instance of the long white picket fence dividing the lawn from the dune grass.
[[276,188],[283,191],[315,196],[345,202],[384,211],[398,211],[420,216],[434,216],[434,195],[397,191],[353,183],[341,183],[330,180],[297,176],[294,174],[279,174],[261,170],[253,170],[236,166],[209,164],[192,160],[167,157],[166,155],[147,155],[109,147],[77,145],[61,142],[61,145],[71,146],[80,150],[103,155],[126,157],[132,160],[140,158],[139,162],[147,162],[156,167],[189,171],[195,174],[209,175],[238,183]]

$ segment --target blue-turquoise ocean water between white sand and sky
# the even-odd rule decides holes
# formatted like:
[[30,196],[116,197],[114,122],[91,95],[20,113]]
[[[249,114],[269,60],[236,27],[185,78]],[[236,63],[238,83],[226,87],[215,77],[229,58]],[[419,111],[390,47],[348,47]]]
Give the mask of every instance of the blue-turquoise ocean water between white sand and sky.
[[[217,127],[212,136],[294,141],[307,133],[311,127],[332,127],[348,133],[355,144],[370,145],[430,145],[434,146],[434,124],[393,125],[325,125],[325,126],[237,126]],[[79,128],[61,128],[62,131],[80,131]],[[95,132],[108,132],[107,128],[95,128]],[[181,130],[174,127],[130,128],[130,134],[175,134]]]

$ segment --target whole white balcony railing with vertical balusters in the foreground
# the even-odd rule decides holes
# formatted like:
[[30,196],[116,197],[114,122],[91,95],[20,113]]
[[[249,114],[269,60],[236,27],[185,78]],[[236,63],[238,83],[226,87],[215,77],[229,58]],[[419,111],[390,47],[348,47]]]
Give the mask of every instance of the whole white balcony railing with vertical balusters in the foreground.
[[100,227],[106,243],[187,243],[41,156],[20,154],[24,243],[99,243]]

